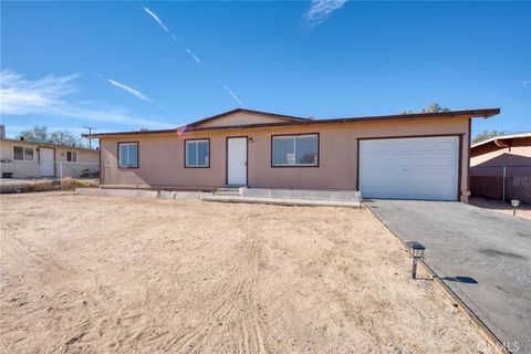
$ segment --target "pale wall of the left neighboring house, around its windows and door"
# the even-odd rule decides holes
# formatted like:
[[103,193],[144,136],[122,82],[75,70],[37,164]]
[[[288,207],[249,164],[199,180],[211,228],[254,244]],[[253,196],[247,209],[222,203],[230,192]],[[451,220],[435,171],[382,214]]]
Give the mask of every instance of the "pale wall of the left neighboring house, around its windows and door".
[[[13,146],[27,146],[33,147],[34,159],[32,162],[19,162],[13,160]],[[13,178],[31,178],[41,176],[41,166],[39,164],[39,144],[31,144],[28,142],[11,142],[11,140],[0,140],[0,170],[2,173],[13,173]],[[43,146],[50,148],[49,146]],[[63,164],[63,175],[72,177],[77,177],[83,169],[90,168],[91,171],[97,171],[100,169],[100,152],[97,150],[87,150],[79,148],[67,148],[63,146],[55,146],[55,175],[60,174],[60,164],[61,162],[66,162],[66,152],[76,152],[77,153],[77,163],[79,164]]]

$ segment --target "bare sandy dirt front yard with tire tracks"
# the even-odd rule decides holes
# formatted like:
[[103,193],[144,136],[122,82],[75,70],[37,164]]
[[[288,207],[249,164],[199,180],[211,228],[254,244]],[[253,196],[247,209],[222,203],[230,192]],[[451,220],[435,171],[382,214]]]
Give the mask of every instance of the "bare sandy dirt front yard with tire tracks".
[[0,266],[3,353],[485,347],[366,210],[3,195]]

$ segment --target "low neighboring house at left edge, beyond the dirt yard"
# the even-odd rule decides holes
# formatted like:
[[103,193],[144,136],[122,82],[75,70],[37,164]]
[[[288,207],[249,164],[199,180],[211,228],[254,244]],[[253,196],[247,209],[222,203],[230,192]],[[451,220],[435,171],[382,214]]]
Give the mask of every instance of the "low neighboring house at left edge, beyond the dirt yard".
[[0,138],[2,177],[97,177],[100,152],[95,149],[51,145],[21,139]]

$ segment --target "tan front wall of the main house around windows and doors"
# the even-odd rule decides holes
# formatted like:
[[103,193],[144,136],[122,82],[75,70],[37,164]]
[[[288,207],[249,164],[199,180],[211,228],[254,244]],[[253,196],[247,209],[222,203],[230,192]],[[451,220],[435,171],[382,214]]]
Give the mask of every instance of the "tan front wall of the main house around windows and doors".
[[[271,167],[271,135],[320,134],[319,167]],[[185,135],[110,136],[101,140],[102,183],[143,188],[207,188],[226,184],[226,137],[249,136],[250,187],[356,189],[357,138],[462,134],[461,190],[468,190],[468,119],[417,119],[382,123],[252,128]],[[184,139],[210,138],[210,168],[184,168]],[[139,143],[139,168],[117,168],[117,143]]]

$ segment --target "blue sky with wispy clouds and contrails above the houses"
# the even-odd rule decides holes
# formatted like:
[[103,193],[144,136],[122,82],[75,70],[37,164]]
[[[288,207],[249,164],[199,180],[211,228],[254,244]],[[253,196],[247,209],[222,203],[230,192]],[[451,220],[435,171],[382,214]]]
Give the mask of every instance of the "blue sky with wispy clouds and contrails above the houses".
[[[147,10],[148,11],[147,11]],[[158,22],[157,22],[158,19]],[[236,107],[331,118],[500,107],[531,131],[530,2],[1,2],[1,121],[76,134]]]

